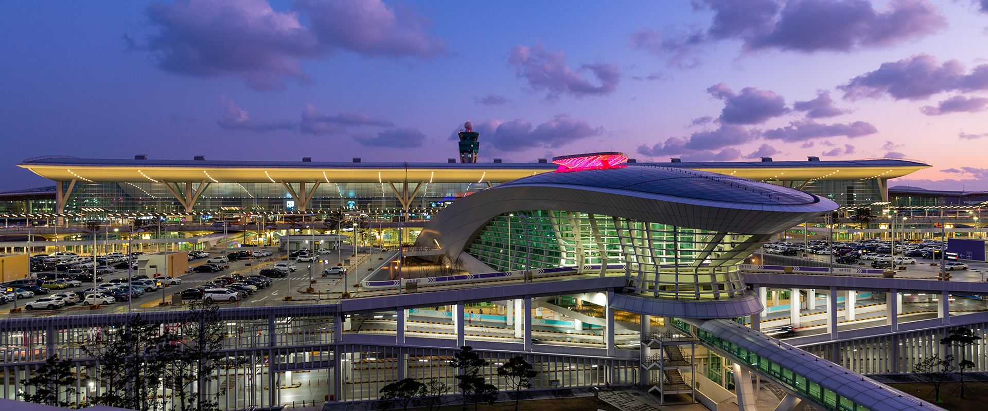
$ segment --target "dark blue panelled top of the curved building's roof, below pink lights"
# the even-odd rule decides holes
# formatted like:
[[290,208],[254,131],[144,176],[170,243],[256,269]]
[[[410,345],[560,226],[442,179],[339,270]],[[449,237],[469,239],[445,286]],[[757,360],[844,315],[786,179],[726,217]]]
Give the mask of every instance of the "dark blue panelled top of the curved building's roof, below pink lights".
[[545,172],[504,184],[614,188],[650,194],[747,204],[814,204],[820,198],[799,190],[707,171],[630,165],[625,168]]

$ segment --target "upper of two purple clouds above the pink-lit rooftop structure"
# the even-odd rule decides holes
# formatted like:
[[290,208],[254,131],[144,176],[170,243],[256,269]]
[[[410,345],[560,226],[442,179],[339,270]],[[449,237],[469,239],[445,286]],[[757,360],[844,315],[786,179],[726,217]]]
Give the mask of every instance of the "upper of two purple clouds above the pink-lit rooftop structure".
[[[606,96],[614,93],[620,81],[620,70],[614,64],[583,64],[573,71],[566,65],[566,56],[560,51],[546,51],[541,44],[534,47],[518,45],[511,49],[508,64],[515,68],[515,75],[529,82],[534,91],[547,92],[547,100],[560,95],[576,98],[584,96]],[[592,74],[600,86],[595,86],[583,77]]]

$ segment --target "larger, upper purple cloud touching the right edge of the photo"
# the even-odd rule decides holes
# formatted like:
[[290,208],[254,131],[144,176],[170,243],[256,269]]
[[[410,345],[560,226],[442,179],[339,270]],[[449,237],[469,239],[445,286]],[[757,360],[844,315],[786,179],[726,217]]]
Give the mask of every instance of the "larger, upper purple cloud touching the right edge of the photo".
[[938,93],[988,90],[988,64],[981,64],[964,74],[957,60],[938,64],[929,54],[917,54],[899,61],[882,63],[877,70],[838,86],[847,100],[879,99],[925,100]]

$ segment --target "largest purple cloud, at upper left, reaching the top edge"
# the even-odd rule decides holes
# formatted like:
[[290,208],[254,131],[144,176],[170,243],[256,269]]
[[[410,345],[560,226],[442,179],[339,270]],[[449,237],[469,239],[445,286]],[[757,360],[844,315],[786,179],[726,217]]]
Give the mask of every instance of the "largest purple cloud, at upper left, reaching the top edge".
[[392,58],[446,52],[443,40],[428,34],[428,20],[408,9],[388,9],[379,0],[302,0],[293,7],[282,13],[265,0],[153,3],[146,10],[153,33],[125,39],[162,70],[237,77],[256,90],[283,89],[287,79],[310,83],[299,60],[321,59],[338,49]]

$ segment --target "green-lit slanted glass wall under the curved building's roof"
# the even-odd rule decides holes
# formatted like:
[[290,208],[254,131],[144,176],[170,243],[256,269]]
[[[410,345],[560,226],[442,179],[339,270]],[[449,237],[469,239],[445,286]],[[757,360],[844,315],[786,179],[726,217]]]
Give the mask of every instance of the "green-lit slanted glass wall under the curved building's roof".
[[465,250],[500,271],[620,264],[625,292],[701,300],[740,297],[740,264],[767,237],[535,210],[493,218]]

